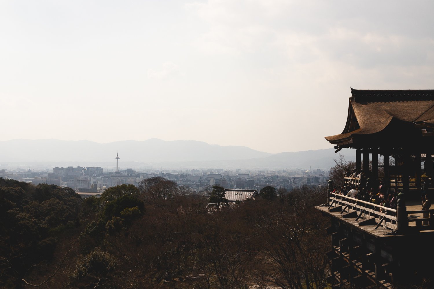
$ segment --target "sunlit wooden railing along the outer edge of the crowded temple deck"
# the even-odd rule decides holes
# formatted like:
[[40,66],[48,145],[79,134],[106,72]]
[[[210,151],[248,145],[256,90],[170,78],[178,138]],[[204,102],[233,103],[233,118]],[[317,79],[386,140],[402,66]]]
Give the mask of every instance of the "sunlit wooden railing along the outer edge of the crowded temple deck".
[[[396,209],[335,193],[329,194],[329,209],[330,208],[333,208],[335,211],[339,210],[340,214],[342,214],[342,218],[356,218],[355,221],[362,218],[362,220],[358,222],[361,226],[375,225],[375,230],[380,226],[391,230],[398,228]],[[427,217],[420,218],[414,216],[414,214],[421,213],[427,213]],[[420,231],[434,229],[434,209],[404,211],[404,218],[401,219],[406,223],[404,227],[408,227],[408,223],[415,222],[415,226]]]

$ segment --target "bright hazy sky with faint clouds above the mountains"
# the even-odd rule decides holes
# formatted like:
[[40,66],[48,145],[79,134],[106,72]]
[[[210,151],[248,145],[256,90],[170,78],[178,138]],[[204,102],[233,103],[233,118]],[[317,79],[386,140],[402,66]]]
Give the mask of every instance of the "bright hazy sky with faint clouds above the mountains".
[[0,1],[0,140],[329,148],[350,86],[434,88],[434,1]]

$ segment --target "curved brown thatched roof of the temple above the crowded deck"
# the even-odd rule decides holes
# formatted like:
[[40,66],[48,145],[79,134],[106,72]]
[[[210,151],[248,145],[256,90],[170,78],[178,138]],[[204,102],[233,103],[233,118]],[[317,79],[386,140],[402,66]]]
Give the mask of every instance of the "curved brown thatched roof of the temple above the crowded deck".
[[418,130],[434,127],[434,90],[351,89],[351,93],[345,129],[326,136],[330,143],[342,144],[351,142],[354,136],[379,133],[391,123],[413,123]]

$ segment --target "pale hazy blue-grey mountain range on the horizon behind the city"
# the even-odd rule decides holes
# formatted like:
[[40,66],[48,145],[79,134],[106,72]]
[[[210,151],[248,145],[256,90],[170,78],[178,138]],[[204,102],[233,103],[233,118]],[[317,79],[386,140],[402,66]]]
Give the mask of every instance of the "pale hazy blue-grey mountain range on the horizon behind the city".
[[[194,140],[145,141],[126,140],[95,143],[88,140],[7,140],[0,141],[2,163],[46,163],[59,166],[115,166],[119,153],[119,166],[138,169],[163,168],[261,168],[328,169],[338,156],[331,149],[309,150],[295,153],[265,153],[247,146],[219,146]],[[354,159],[355,151],[347,150],[346,159]],[[342,154],[342,151],[341,151]],[[98,165],[99,164],[99,165]]]

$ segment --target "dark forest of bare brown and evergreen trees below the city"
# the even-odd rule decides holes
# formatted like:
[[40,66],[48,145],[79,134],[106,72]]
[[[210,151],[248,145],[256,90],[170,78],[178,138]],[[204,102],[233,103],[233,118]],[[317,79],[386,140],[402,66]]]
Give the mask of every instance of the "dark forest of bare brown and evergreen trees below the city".
[[213,192],[155,177],[82,199],[71,188],[0,179],[0,287],[326,286],[328,219],[314,208],[324,188],[209,211]]

